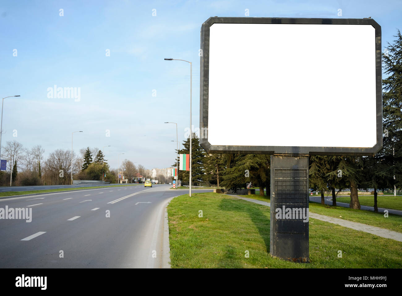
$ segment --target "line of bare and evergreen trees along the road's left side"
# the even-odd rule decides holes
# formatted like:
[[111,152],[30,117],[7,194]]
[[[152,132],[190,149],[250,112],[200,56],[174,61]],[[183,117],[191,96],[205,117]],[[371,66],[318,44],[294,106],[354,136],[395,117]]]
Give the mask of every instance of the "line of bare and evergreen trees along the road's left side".
[[[102,180],[117,182],[117,169],[111,169],[103,152],[94,148],[82,148],[80,154],[71,150],[56,149],[44,157],[45,149],[36,145],[31,149],[23,147],[17,141],[7,141],[2,147],[1,159],[7,160],[7,171],[0,171],[0,186],[34,186],[34,185],[67,185],[71,184],[71,172],[74,180]],[[125,159],[120,167],[123,175],[136,177],[144,166],[135,166]],[[12,171],[12,174],[11,174]],[[141,173],[140,173],[141,174]]]

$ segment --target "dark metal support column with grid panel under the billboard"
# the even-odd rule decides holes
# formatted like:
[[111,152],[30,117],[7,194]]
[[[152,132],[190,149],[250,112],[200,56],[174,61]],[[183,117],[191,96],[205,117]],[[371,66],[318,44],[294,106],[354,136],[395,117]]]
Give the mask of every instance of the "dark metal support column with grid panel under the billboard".
[[271,255],[309,263],[309,155],[271,155]]

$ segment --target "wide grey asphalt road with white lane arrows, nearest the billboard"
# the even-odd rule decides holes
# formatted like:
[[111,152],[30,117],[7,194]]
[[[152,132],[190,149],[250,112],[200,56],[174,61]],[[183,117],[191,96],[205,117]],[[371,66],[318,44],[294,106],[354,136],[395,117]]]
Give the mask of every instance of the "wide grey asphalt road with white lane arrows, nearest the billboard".
[[[188,193],[170,187],[98,188],[0,200],[3,209],[32,209],[31,222],[0,219],[0,268],[160,268],[164,206]],[[212,190],[192,190],[207,191]]]

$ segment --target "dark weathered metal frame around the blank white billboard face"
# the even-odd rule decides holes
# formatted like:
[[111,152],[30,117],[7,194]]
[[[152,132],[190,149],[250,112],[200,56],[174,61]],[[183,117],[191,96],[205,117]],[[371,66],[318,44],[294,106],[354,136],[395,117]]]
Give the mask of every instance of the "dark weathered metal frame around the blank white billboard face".
[[[382,148],[382,80],[381,27],[373,19],[304,19],[265,17],[210,17],[201,26],[200,59],[200,130],[208,130],[209,91],[209,28],[215,23],[234,24],[315,24],[315,25],[371,25],[375,29],[375,92],[377,143],[373,147],[297,147],[297,146],[235,146],[211,145],[208,135],[200,136],[200,145],[211,153],[253,154],[310,154],[310,155],[375,155]],[[351,130],[353,132],[353,130]],[[244,135],[239,135],[242,137]]]

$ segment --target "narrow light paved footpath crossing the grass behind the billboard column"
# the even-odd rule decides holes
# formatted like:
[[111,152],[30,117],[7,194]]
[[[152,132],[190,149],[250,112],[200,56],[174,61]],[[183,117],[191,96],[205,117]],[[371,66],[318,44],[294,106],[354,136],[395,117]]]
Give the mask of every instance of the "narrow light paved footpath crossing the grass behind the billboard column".
[[[243,199],[245,201],[250,201],[252,203],[258,203],[259,205],[266,205],[268,207],[271,207],[271,203],[268,203],[266,201],[259,201],[258,199],[249,199],[247,197],[241,197],[238,195],[233,195],[233,196],[237,197],[238,199]],[[381,236],[383,238],[390,238],[392,240],[397,240],[398,242],[402,242],[402,233],[400,233],[400,232],[388,230],[385,228],[375,227],[375,226],[369,226],[367,224],[362,224],[359,222],[353,222],[353,221],[347,221],[347,220],[343,220],[343,219],[328,217],[328,216],[324,216],[324,215],[320,215],[320,214],[316,214],[316,213],[309,212],[308,216],[313,219],[318,219],[321,221],[338,224],[343,227],[352,228],[352,229],[355,229],[358,231],[363,231],[363,232],[367,232],[370,234],[374,234],[376,236]]]

